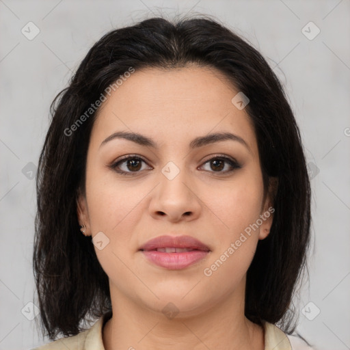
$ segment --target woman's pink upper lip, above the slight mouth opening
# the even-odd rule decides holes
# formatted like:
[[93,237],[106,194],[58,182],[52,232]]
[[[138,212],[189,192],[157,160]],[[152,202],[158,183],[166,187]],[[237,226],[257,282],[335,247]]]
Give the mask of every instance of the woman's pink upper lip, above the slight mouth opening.
[[193,250],[200,250],[202,252],[209,252],[210,249],[198,239],[191,236],[160,236],[151,239],[146,244],[142,245],[139,250],[149,252],[155,250],[157,252],[165,253],[182,253],[191,252]]

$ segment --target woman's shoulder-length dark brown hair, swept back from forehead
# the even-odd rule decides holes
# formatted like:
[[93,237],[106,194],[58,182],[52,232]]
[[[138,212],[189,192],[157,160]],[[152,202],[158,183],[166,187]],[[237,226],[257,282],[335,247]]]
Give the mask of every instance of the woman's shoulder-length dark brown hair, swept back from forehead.
[[91,237],[79,231],[77,193],[84,191],[87,146],[96,111],[67,135],[105,89],[130,67],[171,69],[188,64],[219,70],[250,99],[265,190],[278,178],[271,232],[258,242],[247,271],[245,316],[278,323],[291,334],[292,299],[306,267],[310,239],[310,181],[299,129],[284,90],[265,59],[246,40],[208,16],[150,18],[115,29],[87,53],[69,86],[51,105],[40,154],[33,271],[42,329],[55,340],[72,336],[88,315],[111,310],[109,280]]

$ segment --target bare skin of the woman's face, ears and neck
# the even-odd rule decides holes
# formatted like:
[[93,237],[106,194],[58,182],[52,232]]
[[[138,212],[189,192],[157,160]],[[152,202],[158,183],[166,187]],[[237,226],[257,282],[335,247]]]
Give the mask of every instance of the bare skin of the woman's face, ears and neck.
[[[244,315],[245,277],[273,215],[211,276],[203,272],[271,206],[270,193],[264,201],[250,118],[231,102],[237,92],[215,68],[147,68],[136,70],[100,109],[78,215],[86,234],[109,239],[103,250],[95,247],[113,308],[103,329],[106,350],[264,349],[263,329]],[[159,149],[126,139],[100,146],[116,131],[151,137]],[[220,131],[239,135],[249,149],[226,140],[190,150],[193,138]],[[109,167],[128,154],[145,160],[136,172],[126,162],[119,168],[130,176]],[[220,155],[241,168],[228,172],[227,162],[207,162]],[[172,180],[161,172],[169,161],[180,170]],[[185,269],[158,267],[139,248],[163,234],[188,234],[211,252]],[[179,311],[172,319],[162,312],[170,302]]]

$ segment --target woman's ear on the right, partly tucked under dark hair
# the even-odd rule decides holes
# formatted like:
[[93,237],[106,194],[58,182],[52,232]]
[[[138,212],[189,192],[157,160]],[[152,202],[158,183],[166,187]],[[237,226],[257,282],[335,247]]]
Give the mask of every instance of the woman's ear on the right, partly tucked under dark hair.
[[267,191],[267,195],[264,203],[262,203],[262,211],[260,213],[260,219],[262,220],[262,224],[259,229],[259,239],[265,239],[271,230],[272,222],[273,222],[273,213],[275,212],[275,208],[273,204],[275,203],[275,195],[278,189],[278,178],[270,177],[269,178],[269,189]]

